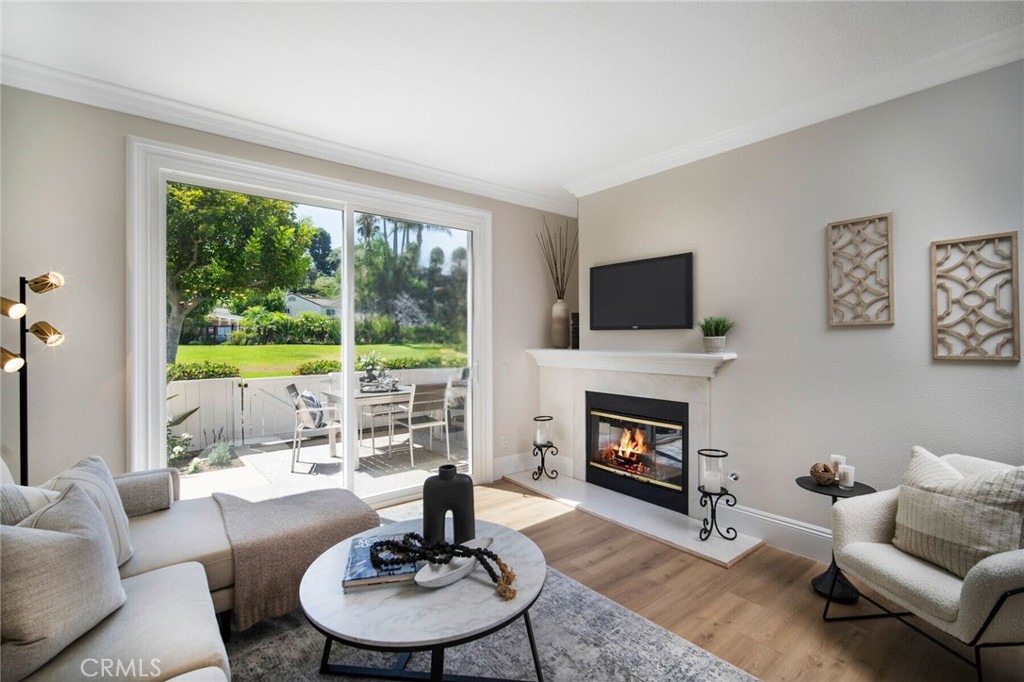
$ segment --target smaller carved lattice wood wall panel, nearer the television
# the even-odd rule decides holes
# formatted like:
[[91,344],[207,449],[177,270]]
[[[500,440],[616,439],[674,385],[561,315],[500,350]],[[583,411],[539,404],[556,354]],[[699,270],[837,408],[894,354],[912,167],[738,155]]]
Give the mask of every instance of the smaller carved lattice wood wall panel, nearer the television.
[[892,225],[892,213],[883,213],[825,226],[830,326],[896,322]]

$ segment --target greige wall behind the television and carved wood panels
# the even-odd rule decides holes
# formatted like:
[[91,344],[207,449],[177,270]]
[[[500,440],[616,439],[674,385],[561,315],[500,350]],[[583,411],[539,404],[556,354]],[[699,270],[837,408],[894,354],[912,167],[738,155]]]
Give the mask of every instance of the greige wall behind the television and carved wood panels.
[[[739,322],[711,439],[740,505],[828,526],[794,479],[829,453],[879,488],[914,444],[1024,465],[1024,367],[932,359],[929,270],[934,240],[1024,229],[1022,128],[1017,62],[580,200],[581,282],[692,251],[697,318]],[[895,326],[829,328],[825,224],[890,211]],[[590,331],[589,302],[584,348],[700,350],[696,330]]]

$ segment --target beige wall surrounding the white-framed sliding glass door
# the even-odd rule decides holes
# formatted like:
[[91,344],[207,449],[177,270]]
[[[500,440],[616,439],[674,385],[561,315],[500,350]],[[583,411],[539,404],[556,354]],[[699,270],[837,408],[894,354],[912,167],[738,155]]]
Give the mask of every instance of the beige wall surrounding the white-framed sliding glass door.
[[[3,88],[0,95],[0,288],[47,269],[65,289],[30,301],[32,319],[67,335],[59,348],[30,346],[30,478],[45,480],[88,455],[114,471],[126,462],[125,138],[196,147],[318,175],[430,197],[494,215],[494,454],[523,452],[531,436],[536,373],[525,348],[547,345],[554,294],[535,233],[542,214],[494,200],[280,152],[138,117]],[[549,222],[564,218],[549,217]],[[574,221],[573,221],[574,224]],[[575,288],[570,292],[575,303]],[[575,306],[573,305],[573,308]],[[3,345],[17,345],[3,323]],[[499,368],[509,367],[501,379]],[[0,454],[18,475],[17,378],[4,375]],[[525,396],[525,397],[524,397]],[[499,446],[500,434],[511,437]]]

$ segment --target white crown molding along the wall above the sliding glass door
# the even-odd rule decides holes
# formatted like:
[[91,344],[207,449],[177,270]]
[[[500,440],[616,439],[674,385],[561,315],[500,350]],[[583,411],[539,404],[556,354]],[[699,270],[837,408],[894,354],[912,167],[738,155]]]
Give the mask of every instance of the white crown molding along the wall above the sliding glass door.
[[575,199],[567,194],[565,197],[550,197],[516,189],[51,69],[17,57],[2,56],[0,82],[3,85],[31,90],[51,97],[201,130],[314,159],[465,191],[558,215],[573,218],[577,216]]

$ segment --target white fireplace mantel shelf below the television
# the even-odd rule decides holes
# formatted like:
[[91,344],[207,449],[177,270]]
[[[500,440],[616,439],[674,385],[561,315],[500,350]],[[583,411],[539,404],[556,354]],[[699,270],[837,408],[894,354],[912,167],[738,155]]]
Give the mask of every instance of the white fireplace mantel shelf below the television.
[[670,353],[637,350],[526,350],[538,367],[574,370],[605,370],[640,374],[668,374],[678,377],[715,376],[718,369],[736,359],[736,353]]

